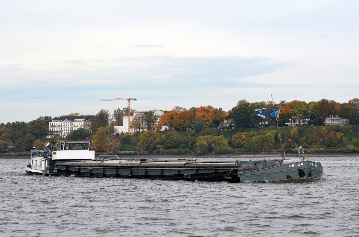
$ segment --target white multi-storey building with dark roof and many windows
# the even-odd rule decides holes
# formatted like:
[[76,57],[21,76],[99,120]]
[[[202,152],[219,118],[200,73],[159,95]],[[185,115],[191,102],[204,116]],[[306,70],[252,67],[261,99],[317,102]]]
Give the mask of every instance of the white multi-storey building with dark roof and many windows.
[[52,138],[55,134],[67,137],[71,131],[80,128],[89,130],[91,133],[90,126],[93,117],[94,115],[54,117],[48,124],[49,134],[46,137]]

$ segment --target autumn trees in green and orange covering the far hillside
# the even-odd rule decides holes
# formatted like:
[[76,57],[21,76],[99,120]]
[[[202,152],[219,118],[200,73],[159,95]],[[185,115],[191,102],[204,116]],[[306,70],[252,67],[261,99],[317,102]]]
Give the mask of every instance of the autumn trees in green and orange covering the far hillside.
[[[350,124],[358,125],[359,122],[359,99],[354,98],[346,103],[339,103],[333,100],[322,99],[317,102],[306,103],[304,101],[285,100],[279,103],[271,101],[248,102],[239,100],[237,105],[229,111],[222,108],[214,108],[212,106],[200,106],[185,109],[181,106],[175,106],[170,111],[163,111],[163,115],[154,115],[153,111],[137,114],[130,124],[131,128],[141,129],[146,127],[147,131],[136,132],[130,134],[115,134],[113,126],[123,125],[123,116],[128,113],[127,108],[114,110],[110,114],[108,110],[100,110],[93,118],[91,130],[95,135],[89,134],[87,130],[79,129],[73,131],[66,138],[67,140],[81,140],[93,137],[97,150],[120,151],[122,147],[135,147],[136,150],[146,150],[154,152],[164,152],[170,149],[187,149],[197,152],[228,152],[233,149],[242,149],[242,151],[255,151],[255,147],[266,146],[267,149],[275,149],[278,144],[276,132],[261,134],[258,131],[244,131],[258,126],[263,119],[256,115],[255,110],[266,108],[265,121],[275,122],[275,118],[268,115],[271,108],[281,107],[279,116],[279,125],[283,126],[289,119],[310,119],[309,125],[323,125],[324,118],[328,115],[339,115],[342,118],[350,119]],[[133,115],[134,110],[130,110]],[[79,113],[72,113],[67,116],[79,116]],[[8,122],[0,125],[0,151],[6,149],[9,141],[13,142],[16,150],[28,150],[31,146],[42,146],[48,134],[48,123],[51,116],[38,117],[38,119],[30,122]],[[156,124],[155,121],[158,123]],[[235,124],[235,131],[218,131],[220,121],[227,119]],[[161,132],[161,128],[165,126],[167,129]],[[270,125],[267,125],[270,126]],[[187,131],[187,129],[189,131]],[[301,131],[298,128],[298,131]],[[329,142],[334,139],[326,139],[328,134],[330,137],[336,137],[335,143]],[[295,144],[306,144],[307,146],[337,146],[343,141],[349,142],[349,145],[356,145],[355,137],[345,140],[345,136],[339,141],[337,135],[339,131],[328,132],[322,134],[317,132],[310,136],[303,136],[284,139],[284,143],[288,147]],[[278,132],[277,132],[278,133]],[[183,135],[185,134],[185,135]],[[268,135],[271,134],[271,135]],[[293,133],[295,134],[295,132]],[[300,132],[299,132],[300,135]],[[210,136],[210,137],[209,137]],[[233,137],[234,136],[234,137]],[[57,135],[52,140],[61,140],[61,136]],[[325,139],[327,140],[324,143]],[[351,140],[350,140],[351,139]],[[36,141],[36,142],[35,142]],[[314,143],[313,143],[314,142]],[[286,144],[288,143],[288,144]],[[220,144],[220,145],[218,145]],[[257,145],[255,145],[257,144]],[[333,145],[334,144],[334,145]],[[262,149],[262,148],[261,148]]]

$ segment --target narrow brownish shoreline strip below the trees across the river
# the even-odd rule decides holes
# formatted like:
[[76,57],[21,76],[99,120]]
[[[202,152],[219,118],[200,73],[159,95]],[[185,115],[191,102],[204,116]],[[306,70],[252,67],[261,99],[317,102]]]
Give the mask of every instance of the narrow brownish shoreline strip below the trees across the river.
[[[103,153],[95,153],[95,157],[98,158],[99,155],[103,155]],[[303,155],[300,155],[301,157]],[[305,157],[321,157],[321,156],[358,156],[359,153],[352,152],[352,153],[344,153],[344,152],[308,152],[304,153]],[[208,154],[202,154],[201,156],[198,156],[196,153],[191,154],[136,154],[136,155],[130,155],[130,154],[121,154],[118,155],[120,159],[206,159],[206,158],[256,158],[261,159],[263,157],[263,153],[208,153]],[[266,153],[265,157],[281,157],[281,154],[279,152],[271,152]],[[286,153],[285,157],[298,157],[298,153]],[[1,154],[0,160],[4,159],[29,159],[29,155],[9,155],[9,154]]]

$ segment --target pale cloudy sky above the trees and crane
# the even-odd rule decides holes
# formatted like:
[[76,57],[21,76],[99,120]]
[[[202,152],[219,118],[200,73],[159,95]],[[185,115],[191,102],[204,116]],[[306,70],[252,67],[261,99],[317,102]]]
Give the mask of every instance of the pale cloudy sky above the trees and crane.
[[0,0],[0,123],[359,93],[359,1]]

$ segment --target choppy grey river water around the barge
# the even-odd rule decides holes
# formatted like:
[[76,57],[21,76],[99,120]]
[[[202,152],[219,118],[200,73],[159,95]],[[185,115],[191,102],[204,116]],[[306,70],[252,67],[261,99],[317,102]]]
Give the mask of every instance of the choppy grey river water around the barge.
[[[215,158],[246,160],[246,158]],[[359,157],[271,183],[28,176],[0,160],[0,236],[359,236]]]

